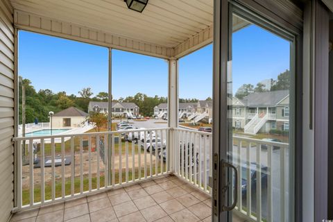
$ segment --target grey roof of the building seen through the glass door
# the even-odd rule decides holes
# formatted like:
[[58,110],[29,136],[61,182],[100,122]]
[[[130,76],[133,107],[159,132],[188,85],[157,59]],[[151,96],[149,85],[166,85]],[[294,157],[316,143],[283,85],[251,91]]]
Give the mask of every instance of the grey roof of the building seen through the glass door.
[[255,92],[239,99],[248,107],[266,107],[278,105],[282,99],[289,96],[289,90],[276,90],[270,92]]

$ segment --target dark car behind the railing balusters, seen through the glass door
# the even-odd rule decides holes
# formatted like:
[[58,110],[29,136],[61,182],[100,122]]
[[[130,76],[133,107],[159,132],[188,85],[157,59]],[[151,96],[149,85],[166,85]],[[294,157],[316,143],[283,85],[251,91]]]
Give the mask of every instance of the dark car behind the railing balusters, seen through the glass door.
[[[267,167],[264,165],[261,165],[262,168],[262,189],[267,188]],[[247,180],[248,180],[248,170],[247,166],[244,164],[241,167],[241,195],[246,195],[246,189],[248,186]],[[257,164],[255,162],[250,163],[250,181],[251,181],[251,187],[252,190],[256,190],[257,187]]]

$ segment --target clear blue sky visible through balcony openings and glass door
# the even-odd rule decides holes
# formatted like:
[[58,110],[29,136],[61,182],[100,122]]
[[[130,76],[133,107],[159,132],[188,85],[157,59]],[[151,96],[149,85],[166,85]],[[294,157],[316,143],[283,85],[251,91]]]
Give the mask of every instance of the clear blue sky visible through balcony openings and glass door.
[[[232,35],[233,92],[289,69],[289,42],[257,26]],[[167,96],[167,62],[160,58],[112,50],[114,98]],[[58,37],[19,32],[19,75],[36,90],[78,94],[83,87],[108,92],[108,49]],[[180,98],[212,96],[212,44],[179,60]]]

